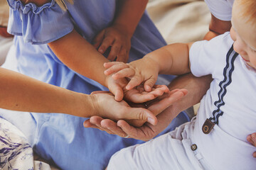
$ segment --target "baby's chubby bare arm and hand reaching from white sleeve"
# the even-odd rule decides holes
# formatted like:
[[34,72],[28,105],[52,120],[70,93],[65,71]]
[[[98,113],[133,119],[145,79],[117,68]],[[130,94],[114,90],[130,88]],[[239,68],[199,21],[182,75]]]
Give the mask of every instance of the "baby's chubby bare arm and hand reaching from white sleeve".
[[186,74],[190,72],[188,53],[192,43],[172,44],[150,52],[141,60],[129,64],[122,62],[105,63],[106,75],[113,79],[129,77],[131,80],[126,86],[127,90],[144,83],[144,89],[151,91],[156,83],[158,74]]

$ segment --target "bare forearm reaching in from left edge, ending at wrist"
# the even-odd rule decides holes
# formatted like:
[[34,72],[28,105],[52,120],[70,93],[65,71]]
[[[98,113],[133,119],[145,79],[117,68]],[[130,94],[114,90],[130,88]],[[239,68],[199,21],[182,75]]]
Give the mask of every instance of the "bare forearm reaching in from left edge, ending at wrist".
[[[43,83],[23,74],[0,68],[0,107],[13,111],[68,113],[90,117],[90,96]],[[82,111],[87,111],[82,112]]]

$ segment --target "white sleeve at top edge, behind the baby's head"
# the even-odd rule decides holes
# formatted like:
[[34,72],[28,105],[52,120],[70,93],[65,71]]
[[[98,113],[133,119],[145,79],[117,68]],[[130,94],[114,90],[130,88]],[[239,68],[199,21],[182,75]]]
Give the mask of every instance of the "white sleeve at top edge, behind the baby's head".
[[222,21],[231,21],[232,6],[235,0],[205,0],[210,13]]

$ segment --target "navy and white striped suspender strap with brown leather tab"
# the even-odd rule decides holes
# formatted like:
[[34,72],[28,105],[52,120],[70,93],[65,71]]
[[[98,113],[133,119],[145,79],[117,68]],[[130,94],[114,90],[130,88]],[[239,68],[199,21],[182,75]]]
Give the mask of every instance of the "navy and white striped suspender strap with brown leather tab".
[[227,93],[227,86],[230,85],[232,81],[232,73],[235,69],[234,62],[235,58],[238,57],[238,53],[233,50],[233,45],[230,47],[230,50],[228,50],[228,53],[226,55],[226,65],[223,69],[223,81],[220,81],[220,91],[218,91],[218,101],[214,102],[214,105],[216,106],[215,110],[213,111],[213,116],[206,119],[206,122],[203,123],[203,133],[208,134],[210,130],[213,129],[213,126],[215,124],[218,125],[218,119],[221,115],[223,115],[223,111],[220,110],[221,106],[225,105],[225,102],[223,100],[225,94]]

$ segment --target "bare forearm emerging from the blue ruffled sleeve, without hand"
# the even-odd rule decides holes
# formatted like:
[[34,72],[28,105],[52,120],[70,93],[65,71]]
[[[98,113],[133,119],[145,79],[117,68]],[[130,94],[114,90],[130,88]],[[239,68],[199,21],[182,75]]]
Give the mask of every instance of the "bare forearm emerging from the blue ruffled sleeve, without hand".
[[48,45],[70,69],[107,86],[103,64],[109,61],[75,30]]

